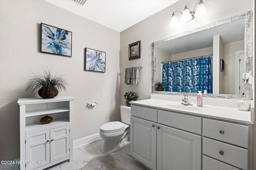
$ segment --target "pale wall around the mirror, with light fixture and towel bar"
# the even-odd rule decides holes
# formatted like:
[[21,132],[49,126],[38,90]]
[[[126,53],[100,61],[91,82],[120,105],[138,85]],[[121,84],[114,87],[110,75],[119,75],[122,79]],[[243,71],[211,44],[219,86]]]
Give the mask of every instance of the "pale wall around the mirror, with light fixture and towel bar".
[[[151,43],[182,33],[209,23],[220,21],[231,16],[252,10],[252,0],[204,0],[207,14],[203,18],[195,18],[188,23],[181,23],[176,28],[170,28],[172,12],[182,11],[187,5],[190,10],[197,0],[180,0],[164,10],[146,18],[136,25],[124,30],[120,34],[120,67],[143,64],[140,70],[140,84],[124,84],[124,71],[120,72],[120,99],[125,104],[124,93],[136,92],[138,100],[150,98],[151,93]],[[180,18],[179,14],[177,14]],[[128,60],[128,45],[141,41],[141,58]]]

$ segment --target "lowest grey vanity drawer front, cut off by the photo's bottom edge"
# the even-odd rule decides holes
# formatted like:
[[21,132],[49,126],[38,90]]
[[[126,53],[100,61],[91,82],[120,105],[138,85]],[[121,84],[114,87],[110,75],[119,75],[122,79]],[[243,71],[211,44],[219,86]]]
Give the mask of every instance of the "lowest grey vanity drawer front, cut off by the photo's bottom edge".
[[220,162],[214,158],[203,155],[203,168],[202,170],[240,170],[224,162]]

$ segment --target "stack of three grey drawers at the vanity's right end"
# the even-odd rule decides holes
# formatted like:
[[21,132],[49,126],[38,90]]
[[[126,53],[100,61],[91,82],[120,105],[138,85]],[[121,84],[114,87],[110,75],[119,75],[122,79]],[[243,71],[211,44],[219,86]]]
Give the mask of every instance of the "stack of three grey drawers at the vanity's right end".
[[203,118],[202,143],[203,170],[253,169],[248,125]]

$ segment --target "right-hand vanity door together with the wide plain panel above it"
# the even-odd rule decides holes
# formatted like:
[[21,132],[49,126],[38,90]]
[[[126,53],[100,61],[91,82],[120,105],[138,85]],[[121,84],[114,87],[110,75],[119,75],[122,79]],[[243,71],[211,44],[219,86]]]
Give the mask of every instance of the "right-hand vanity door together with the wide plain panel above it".
[[202,118],[158,109],[157,170],[200,170]]

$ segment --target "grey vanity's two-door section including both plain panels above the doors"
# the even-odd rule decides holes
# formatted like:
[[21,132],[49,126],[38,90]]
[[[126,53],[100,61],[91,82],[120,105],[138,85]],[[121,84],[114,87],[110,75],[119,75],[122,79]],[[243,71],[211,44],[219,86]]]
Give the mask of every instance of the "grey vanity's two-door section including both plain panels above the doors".
[[134,158],[152,170],[201,169],[202,118],[136,105],[131,115]]

